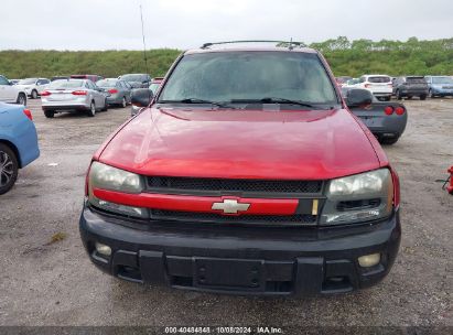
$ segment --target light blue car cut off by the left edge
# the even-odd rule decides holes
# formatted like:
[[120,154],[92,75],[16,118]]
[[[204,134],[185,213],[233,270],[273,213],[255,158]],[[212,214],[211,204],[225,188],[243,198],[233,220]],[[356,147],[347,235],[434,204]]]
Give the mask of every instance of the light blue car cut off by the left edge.
[[24,106],[0,102],[0,194],[14,185],[19,169],[39,156],[31,111]]

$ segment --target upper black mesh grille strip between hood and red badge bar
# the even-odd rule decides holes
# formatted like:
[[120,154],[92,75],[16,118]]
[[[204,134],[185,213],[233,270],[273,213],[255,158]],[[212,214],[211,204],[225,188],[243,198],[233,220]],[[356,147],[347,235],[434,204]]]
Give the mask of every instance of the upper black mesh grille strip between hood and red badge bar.
[[224,180],[175,176],[150,176],[148,188],[157,193],[205,195],[259,194],[285,195],[321,193],[322,181]]

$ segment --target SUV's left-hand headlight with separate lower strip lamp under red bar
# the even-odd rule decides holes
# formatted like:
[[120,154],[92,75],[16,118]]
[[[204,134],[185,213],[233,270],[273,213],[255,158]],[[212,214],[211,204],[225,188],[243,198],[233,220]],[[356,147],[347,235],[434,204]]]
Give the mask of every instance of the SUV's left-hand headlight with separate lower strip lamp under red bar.
[[136,217],[148,217],[148,209],[126,206],[99,199],[94,195],[95,188],[139,194],[143,191],[143,179],[134,173],[93,162],[88,176],[88,202],[95,207]]

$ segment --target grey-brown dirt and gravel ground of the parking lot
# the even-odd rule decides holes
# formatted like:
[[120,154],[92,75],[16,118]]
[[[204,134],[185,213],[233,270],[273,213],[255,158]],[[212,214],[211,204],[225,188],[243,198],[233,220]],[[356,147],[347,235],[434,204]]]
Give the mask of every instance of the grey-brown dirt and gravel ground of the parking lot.
[[[97,270],[78,235],[84,176],[129,108],[51,120],[30,100],[41,158],[0,198],[0,325],[453,326],[453,196],[435,183],[453,164],[453,99],[406,105],[407,131],[385,148],[402,183],[403,238],[390,274],[353,294],[276,300],[139,285]],[[56,233],[66,237],[50,242]]]

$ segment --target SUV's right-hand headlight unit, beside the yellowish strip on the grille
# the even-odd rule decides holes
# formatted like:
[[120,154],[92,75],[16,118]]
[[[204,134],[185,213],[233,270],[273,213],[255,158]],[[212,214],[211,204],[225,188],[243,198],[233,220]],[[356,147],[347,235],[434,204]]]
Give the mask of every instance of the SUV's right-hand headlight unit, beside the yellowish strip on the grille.
[[388,169],[332,180],[322,225],[362,223],[387,217],[392,210],[393,182]]

